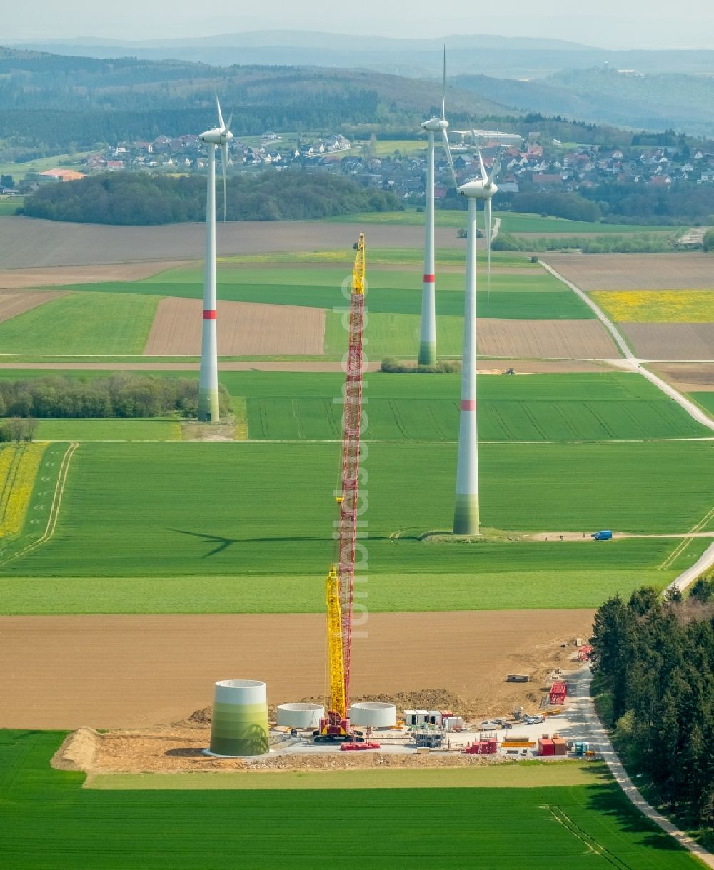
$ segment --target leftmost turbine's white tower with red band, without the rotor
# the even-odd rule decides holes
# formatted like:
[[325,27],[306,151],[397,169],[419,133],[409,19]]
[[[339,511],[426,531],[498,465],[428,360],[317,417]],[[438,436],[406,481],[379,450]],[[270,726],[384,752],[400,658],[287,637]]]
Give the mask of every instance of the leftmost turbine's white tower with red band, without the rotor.
[[208,145],[205,201],[205,278],[199,372],[199,420],[219,423],[219,358],[216,335],[216,146]]

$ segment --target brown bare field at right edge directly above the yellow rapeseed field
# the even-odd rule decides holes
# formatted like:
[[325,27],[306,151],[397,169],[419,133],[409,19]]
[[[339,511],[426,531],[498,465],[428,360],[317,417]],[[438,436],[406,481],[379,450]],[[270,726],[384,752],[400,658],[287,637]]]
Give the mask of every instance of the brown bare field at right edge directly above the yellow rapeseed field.
[[543,260],[581,290],[709,290],[711,255],[547,254]]

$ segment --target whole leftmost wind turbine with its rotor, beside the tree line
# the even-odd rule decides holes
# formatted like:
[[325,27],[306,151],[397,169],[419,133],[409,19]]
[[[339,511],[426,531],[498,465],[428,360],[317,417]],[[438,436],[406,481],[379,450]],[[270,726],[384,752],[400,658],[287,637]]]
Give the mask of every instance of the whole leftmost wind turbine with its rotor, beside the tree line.
[[216,338],[216,148],[221,149],[223,167],[223,219],[226,220],[228,187],[228,143],[233,134],[223,120],[219,98],[216,97],[219,125],[201,133],[199,139],[208,145],[208,181],[205,194],[205,278],[203,285],[203,332],[201,335],[201,367],[199,372],[199,420],[218,423],[219,358]]

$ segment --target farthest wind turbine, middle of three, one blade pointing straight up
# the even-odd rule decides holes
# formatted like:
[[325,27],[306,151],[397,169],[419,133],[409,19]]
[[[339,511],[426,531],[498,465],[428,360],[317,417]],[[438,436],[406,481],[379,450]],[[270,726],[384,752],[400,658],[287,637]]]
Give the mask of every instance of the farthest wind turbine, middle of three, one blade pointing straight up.
[[424,239],[424,274],[421,290],[421,335],[419,341],[419,365],[434,365],[436,362],[436,294],[434,278],[434,134],[441,133],[441,142],[446,151],[448,167],[456,186],[454,161],[448,147],[448,121],[446,119],[446,46],[444,46],[444,77],[441,96],[441,117],[432,117],[421,124],[429,134],[427,159],[427,209],[426,236]]

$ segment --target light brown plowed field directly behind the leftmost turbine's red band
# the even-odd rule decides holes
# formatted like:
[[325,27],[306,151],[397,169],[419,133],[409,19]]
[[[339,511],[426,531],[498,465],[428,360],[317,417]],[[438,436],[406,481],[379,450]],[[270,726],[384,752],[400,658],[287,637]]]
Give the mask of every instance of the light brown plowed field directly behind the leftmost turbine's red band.
[[[147,357],[201,352],[202,303],[166,298],[158,303],[144,348]],[[318,354],[325,350],[325,311],[292,305],[219,302],[219,354]]]

